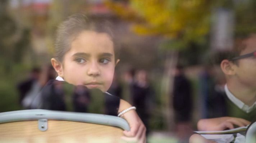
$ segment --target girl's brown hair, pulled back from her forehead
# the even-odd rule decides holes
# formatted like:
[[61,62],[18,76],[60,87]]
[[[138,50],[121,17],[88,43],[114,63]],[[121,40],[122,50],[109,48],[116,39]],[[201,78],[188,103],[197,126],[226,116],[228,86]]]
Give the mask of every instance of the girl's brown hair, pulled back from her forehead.
[[107,33],[114,44],[115,59],[118,59],[119,48],[115,43],[108,21],[94,22],[83,14],[74,14],[64,20],[56,31],[55,59],[62,62],[63,57],[71,48],[72,41],[84,30]]

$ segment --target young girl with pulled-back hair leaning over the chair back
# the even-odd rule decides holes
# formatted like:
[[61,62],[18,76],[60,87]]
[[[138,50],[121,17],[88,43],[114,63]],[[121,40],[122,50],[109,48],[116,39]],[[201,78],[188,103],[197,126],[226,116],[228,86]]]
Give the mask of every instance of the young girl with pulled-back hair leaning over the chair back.
[[[56,55],[51,59],[51,64],[58,77],[48,85],[54,84],[58,89],[61,83],[67,82],[76,85],[76,91],[85,87],[100,89],[106,93],[104,96],[108,103],[113,105],[110,109],[114,109],[116,114],[121,113],[121,117],[126,119],[131,127],[131,131],[123,132],[125,135],[123,139],[144,143],[146,128],[134,108],[124,100],[107,93],[113,80],[115,65],[119,62],[116,51],[113,37],[107,28],[103,26],[97,28],[97,25],[82,14],[72,15],[57,30]],[[47,90],[43,89],[44,91]],[[64,107],[63,102],[59,103],[60,107]],[[116,104],[117,107],[114,108]],[[43,108],[51,107],[43,106]],[[124,110],[127,112],[122,112]]]

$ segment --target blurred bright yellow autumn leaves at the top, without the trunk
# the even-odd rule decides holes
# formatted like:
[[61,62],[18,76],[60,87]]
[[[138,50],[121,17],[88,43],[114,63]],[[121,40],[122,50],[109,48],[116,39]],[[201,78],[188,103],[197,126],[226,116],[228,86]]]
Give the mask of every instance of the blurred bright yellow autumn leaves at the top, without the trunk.
[[[118,4],[111,8],[123,16],[120,7]],[[206,0],[131,0],[123,9],[128,9],[126,15],[132,15],[129,20],[134,22],[134,32],[163,36],[169,39],[162,45],[168,49],[201,43],[210,29],[211,3]]]

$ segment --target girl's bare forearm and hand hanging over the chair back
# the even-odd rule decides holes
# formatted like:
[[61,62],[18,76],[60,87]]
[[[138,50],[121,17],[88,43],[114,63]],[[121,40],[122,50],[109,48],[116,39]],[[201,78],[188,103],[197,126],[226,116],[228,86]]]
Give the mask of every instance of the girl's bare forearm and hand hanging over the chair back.
[[[123,110],[132,107],[131,104],[125,100],[120,99],[118,113]],[[141,121],[140,117],[135,110],[129,110],[122,116],[130,125],[131,130],[124,130],[124,135],[122,138],[126,141],[136,142],[136,143],[146,143],[146,127]]]

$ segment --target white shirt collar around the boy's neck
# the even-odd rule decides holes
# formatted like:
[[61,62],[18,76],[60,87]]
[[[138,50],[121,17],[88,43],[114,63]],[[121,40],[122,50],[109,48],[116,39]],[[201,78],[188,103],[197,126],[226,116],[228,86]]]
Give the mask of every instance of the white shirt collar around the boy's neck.
[[244,104],[241,100],[236,98],[228,89],[227,84],[225,85],[225,93],[227,94],[229,100],[231,100],[238,108],[242,109],[244,112],[249,113],[256,107],[256,102],[249,107],[248,105]]

